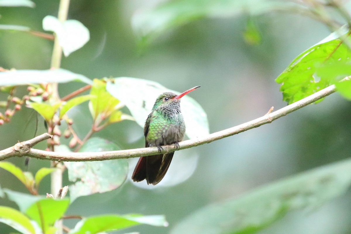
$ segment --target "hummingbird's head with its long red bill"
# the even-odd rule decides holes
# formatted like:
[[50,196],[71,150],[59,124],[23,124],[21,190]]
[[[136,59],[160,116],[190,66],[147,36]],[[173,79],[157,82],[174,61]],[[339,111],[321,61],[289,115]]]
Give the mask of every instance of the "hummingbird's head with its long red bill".
[[201,86],[196,86],[194,88],[188,89],[187,91],[177,95],[175,93],[167,92],[163,93],[158,96],[158,98],[155,101],[155,104],[153,106],[153,110],[155,109],[176,109],[180,111],[180,99],[186,95],[187,93],[190,93],[191,91],[199,88]]

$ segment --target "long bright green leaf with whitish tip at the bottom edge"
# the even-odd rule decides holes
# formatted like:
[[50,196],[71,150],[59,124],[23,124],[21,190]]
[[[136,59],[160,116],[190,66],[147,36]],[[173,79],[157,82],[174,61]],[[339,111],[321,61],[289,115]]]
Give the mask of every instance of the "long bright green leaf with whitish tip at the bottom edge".
[[69,234],[95,234],[106,231],[120,230],[139,224],[168,226],[163,215],[101,215],[83,219],[77,223]]

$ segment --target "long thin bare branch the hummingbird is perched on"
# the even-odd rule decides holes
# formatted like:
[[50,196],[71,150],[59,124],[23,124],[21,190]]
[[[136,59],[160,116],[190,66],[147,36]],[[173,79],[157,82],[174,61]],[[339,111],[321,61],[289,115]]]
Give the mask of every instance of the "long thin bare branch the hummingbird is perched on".
[[[202,138],[179,142],[178,148],[175,148],[173,145],[163,146],[163,150],[161,150],[161,152],[158,151],[157,147],[127,149],[127,150],[121,150],[121,151],[84,152],[84,153],[60,153],[60,152],[48,152],[48,151],[42,151],[39,149],[32,149],[31,147],[35,145],[35,143],[38,143],[42,140],[46,140],[51,137],[49,134],[45,133],[40,136],[37,136],[32,140],[28,140],[22,143],[17,143],[13,147],[0,151],[0,161],[7,158],[15,157],[15,156],[18,156],[18,157],[28,156],[32,158],[46,159],[46,160],[52,160],[52,161],[102,161],[102,160],[111,160],[111,159],[137,158],[140,156],[169,153],[172,151],[178,151],[181,149],[187,149],[187,148],[203,145],[205,143],[210,143],[212,141],[225,138],[227,136],[232,136],[241,132],[245,132],[249,129],[259,127],[266,123],[271,123],[272,121],[279,119],[280,117],[283,117],[291,112],[294,112],[304,106],[307,106],[321,98],[324,98],[334,93],[335,91],[336,91],[335,85],[331,85],[310,96],[307,96],[304,99],[294,102],[289,106],[283,107],[282,109],[279,109],[278,111],[274,111],[272,113],[269,112],[264,116],[257,118],[255,120],[251,120],[241,125],[206,135]],[[19,147],[19,146],[26,146],[29,148],[26,148],[25,150],[21,150],[22,147]]]

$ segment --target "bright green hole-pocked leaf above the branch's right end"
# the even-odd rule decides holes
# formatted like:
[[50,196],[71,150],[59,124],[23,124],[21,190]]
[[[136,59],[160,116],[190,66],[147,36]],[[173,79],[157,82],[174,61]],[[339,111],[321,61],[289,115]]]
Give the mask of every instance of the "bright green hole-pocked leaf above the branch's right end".
[[[323,43],[319,42],[297,56],[278,76],[276,82],[283,84],[280,91],[283,92],[284,101],[291,104],[336,82],[331,75],[334,75],[335,78],[338,70],[328,66],[345,66],[351,61],[350,49],[342,43],[340,38],[333,39],[336,35],[338,34],[333,33],[324,39]],[[349,33],[347,36],[349,37]],[[328,79],[321,79],[318,76],[322,74],[318,72],[318,69],[323,69],[323,66],[326,67],[324,71],[329,72]]]

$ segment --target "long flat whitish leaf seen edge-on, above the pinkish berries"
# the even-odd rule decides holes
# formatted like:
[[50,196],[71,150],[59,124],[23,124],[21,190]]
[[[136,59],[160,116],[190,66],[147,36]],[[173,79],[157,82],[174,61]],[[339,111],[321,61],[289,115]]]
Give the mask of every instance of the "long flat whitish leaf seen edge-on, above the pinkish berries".
[[15,70],[0,72],[0,86],[4,85],[26,85],[69,81],[81,81],[91,84],[91,80],[84,75],[76,74],[65,69],[52,70]]

